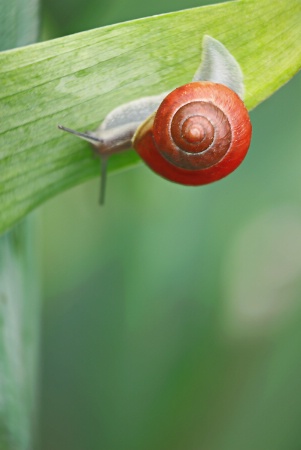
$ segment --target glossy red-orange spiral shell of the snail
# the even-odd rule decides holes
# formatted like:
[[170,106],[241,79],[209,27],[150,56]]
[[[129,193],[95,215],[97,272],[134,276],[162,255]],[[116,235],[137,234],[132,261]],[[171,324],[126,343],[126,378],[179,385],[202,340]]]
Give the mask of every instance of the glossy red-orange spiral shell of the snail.
[[196,81],[168,94],[137,130],[133,146],[156,173],[180,184],[219,180],[243,161],[252,126],[228,87]]

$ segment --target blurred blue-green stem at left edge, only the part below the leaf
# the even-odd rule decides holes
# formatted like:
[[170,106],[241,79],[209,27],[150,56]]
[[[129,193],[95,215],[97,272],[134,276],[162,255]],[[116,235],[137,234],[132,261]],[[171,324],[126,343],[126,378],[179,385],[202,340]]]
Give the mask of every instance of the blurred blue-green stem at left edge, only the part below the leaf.
[[0,238],[0,448],[32,448],[38,347],[33,218]]

